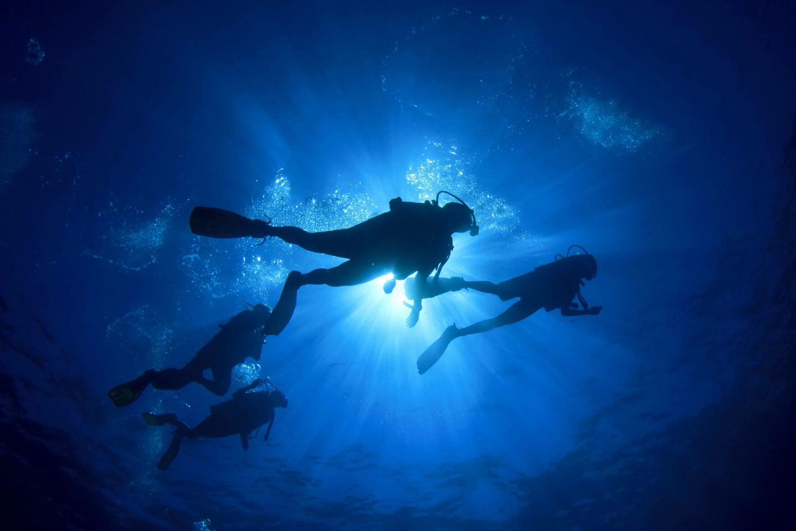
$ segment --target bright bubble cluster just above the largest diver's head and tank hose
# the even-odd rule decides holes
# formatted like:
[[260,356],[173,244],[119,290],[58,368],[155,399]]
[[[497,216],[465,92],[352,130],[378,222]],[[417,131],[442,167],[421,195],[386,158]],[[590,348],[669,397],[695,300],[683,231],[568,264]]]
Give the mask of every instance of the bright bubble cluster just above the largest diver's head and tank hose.
[[[406,174],[417,200],[433,200],[439,190],[447,190],[475,210],[483,235],[525,237],[517,210],[505,198],[490,193],[478,183],[467,168],[468,162],[457,156],[456,146],[450,146],[445,154],[442,143],[429,142],[426,152],[427,158],[410,165]],[[439,197],[440,204],[443,198],[450,199],[443,194]]]

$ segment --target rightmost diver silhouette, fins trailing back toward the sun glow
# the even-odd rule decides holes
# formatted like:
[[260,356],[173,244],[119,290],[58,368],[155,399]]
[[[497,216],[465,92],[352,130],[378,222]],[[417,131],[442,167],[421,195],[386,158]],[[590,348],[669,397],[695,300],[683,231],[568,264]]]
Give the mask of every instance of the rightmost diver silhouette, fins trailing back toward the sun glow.
[[[569,252],[572,251],[572,248],[579,248],[584,254],[570,256]],[[442,336],[418,358],[418,372],[423,374],[431,369],[431,366],[442,357],[447,346],[455,338],[481,334],[499,326],[519,322],[541,308],[548,311],[560,308],[561,314],[565,317],[599,314],[603,306],[589,307],[586,299],[580,295],[580,287],[586,285],[583,283],[583,279],[591,280],[596,275],[597,260],[595,257],[579,245],[572,245],[567,251],[567,256],[556,255],[556,261],[551,264],[541,265],[525,275],[498,284],[487,281],[468,282],[462,278],[439,279],[438,283],[427,283],[419,287],[415,283],[407,282],[405,287],[407,295],[413,298],[429,299],[448,291],[458,291],[464,288],[497,295],[504,301],[520,299],[497,317],[476,322],[465,328],[456,328],[456,325],[448,326]],[[572,302],[576,297],[580,306],[583,306],[582,310],[577,309],[578,303]]]

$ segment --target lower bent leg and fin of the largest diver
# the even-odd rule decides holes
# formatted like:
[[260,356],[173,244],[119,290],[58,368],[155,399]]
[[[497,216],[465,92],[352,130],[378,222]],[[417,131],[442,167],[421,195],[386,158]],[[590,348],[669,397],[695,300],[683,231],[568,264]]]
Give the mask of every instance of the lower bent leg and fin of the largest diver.
[[285,330],[287,323],[291,322],[296,309],[299,287],[306,286],[306,284],[326,284],[334,287],[356,286],[377,279],[390,271],[392,271],[392,267],[373,264],[368,260],[348,260],[337,267],[315,269],[306,274],[291,271],[282,288],[282,295],[279,295],[279,301],[274,306],[271,317],[265,323],[265,334],[279,335],[282,330]]

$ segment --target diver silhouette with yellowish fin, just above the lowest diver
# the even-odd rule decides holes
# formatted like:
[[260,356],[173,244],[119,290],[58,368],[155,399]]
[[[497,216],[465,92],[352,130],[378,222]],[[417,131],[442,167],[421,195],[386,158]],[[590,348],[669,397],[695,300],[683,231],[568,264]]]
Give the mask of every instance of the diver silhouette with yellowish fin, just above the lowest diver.
[[[227,324],[219,325],[220,331],[205,344],[193,360],[182,369],[149,369],[136,378],[117,385],[107,392],[117,407],[130,405],[147,385],[156,389],[181,389],[192,381],[204,385],[209,392],[224,396],[232,381],[232,368],[243,363],[247,357],[259,360],[260,351],[268,333],[268,318],[271,308],[264,304],[244,303],[251,310],[243,310],[233,316]],[[203,372],[210,369],[213,380],[205,378]]]

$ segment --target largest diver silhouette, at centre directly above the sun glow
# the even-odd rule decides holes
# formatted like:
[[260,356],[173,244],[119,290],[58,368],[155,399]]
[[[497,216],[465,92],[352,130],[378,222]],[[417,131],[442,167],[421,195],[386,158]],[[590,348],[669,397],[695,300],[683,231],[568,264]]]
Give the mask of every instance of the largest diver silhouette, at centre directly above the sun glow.
[[[443,193],[458,202],[439,205]],[[416,282],[426,282],[436,270],[434,279],[451,257],[454,232],[470,232],[478,236],[475,213],[464,201],[450,192],[437,193],[434,201],[416,203],[390,200],[389,212],[371,217],[353,227],[326,232],[306,232],[298,227],[275,227],[271,219],[250,220],[223,209],[197,206],[190,217],[191,231],[213,238],[277,237],[310,252],[345,258],[347,261],[329,269],[309,273],[291,271],[274,307],[269,327],[279,334],[293,315],[298,288],[306,284],[356,286],[392,273],[384,283],[384,292],[391,293],[397,280],[417,273]],[[415,326],[423,305],[416,299],[407,318]]]

